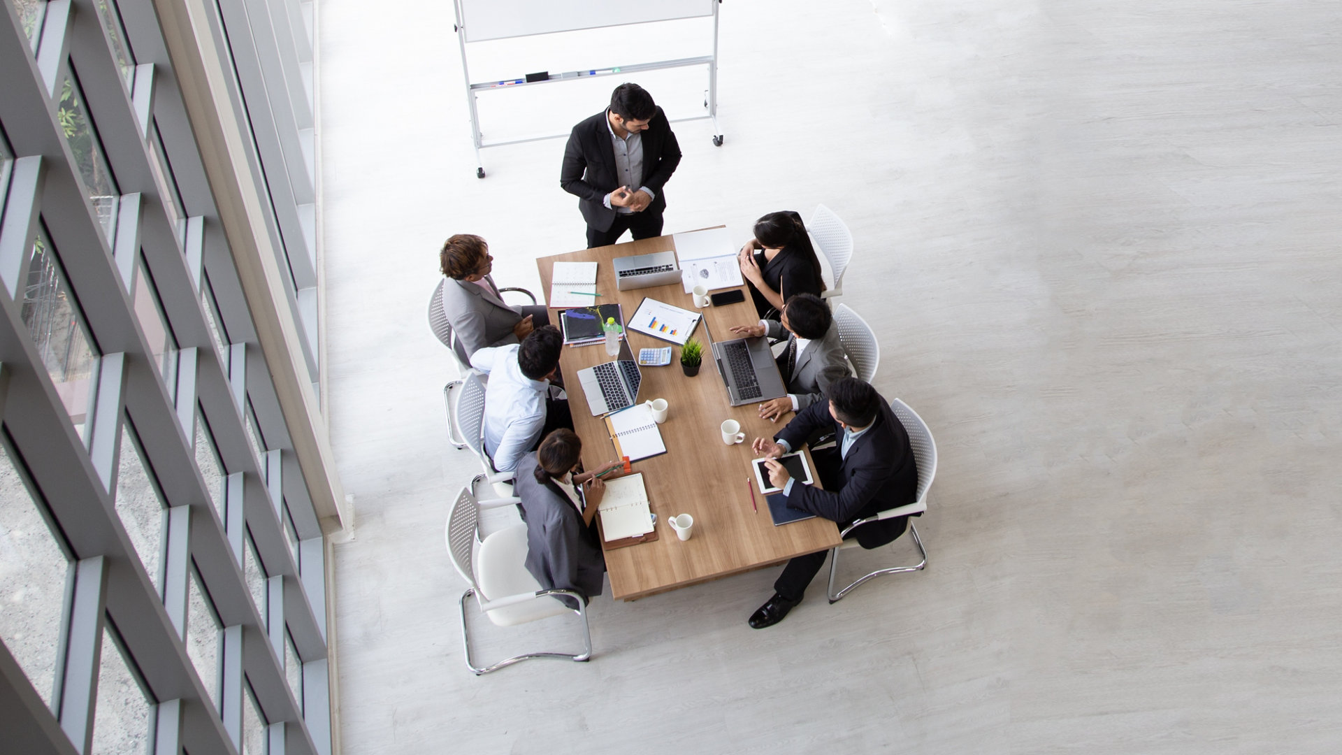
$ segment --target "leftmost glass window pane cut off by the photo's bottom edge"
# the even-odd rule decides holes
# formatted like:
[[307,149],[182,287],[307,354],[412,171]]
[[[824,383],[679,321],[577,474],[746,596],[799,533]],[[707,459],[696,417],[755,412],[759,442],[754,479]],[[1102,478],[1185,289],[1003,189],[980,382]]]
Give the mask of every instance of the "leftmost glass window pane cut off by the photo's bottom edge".
[[98,701],[93,713],[93,755],[145,755],[154,725],[154,708],[132,676],[121,645],[102,630]]

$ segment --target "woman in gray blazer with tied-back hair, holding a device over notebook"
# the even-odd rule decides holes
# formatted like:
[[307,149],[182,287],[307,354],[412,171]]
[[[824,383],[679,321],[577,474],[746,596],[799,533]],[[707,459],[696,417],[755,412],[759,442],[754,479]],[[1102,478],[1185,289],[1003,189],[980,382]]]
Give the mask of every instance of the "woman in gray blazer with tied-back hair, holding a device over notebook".
[[[601,594],[605,575],[605,556],[592,524],[605,492],[597,474],[620,462],[580,473],[581,462],[582,441],[572,430],[556,430],[517,463],[513,490],[522,498],[526,520],[526,570],[541,587],[573,590],[588,602]],[[560,601],[577,610],[572,598]]]

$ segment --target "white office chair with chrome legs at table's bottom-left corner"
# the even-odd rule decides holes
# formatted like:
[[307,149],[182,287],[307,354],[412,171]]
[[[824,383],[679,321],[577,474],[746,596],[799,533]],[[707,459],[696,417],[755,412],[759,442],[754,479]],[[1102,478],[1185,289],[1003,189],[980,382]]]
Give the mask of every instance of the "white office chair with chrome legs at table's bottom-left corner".
[[[582,595],[572,590],[544,590],[541,583],[526,570],[526,524],[514,524],[480,539],[480,509],[511,506],[521,498],[478,500],[471,492],[479,476],[471,485],[462,489],[447,515],[444,537],[452,566],[466,579],[470,587],[462,594],[462,645],[466,649],[466,668],[475,676],[490,673],[527,658],[558,658],[566,661],[586,661],[592,657],[592,629],[588,626],[586,606]],[[573,611],[582,619],[582,646],[577,654],[568,653],[523,653],[488,666],[471,662],[471,633],[466,623],[466,601],[475,596],[480,613],[495,626],[517,626],[549,617]],[[556,595],[568,595],[577,601],[574,611],[561,603]]]

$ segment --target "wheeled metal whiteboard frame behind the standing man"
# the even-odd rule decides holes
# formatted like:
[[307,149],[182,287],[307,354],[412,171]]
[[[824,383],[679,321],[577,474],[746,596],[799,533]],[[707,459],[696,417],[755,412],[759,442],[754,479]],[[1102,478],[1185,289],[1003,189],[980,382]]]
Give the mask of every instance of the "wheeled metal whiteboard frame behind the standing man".
[[[632,73],[639,73],[639,71],[655,71],[655,70],[666,70],[666,69],[683,69],[683,67],[692,67],[692,66],[706,66],[707,67],[707,74],[709,74],[709,97],[705,101],[705,109],[707,110],[707,113],[703,114],[703,116],[692,116],[692,117],[688,117],[688,118],[676,118],[675,122],[680,122],[680,121],[702,121],[705,118],[711,120],[713,121],[713,144],[714,144],[714,146],[722,146],[722,141],[723,141],[723,138],[722,138],[722,130],[718,128],[718,7],[722,4],[722,0],[713,0],[713,3],[711,3],[711,7],[713,7],[713,54],[711,55],[699,55],[696,58],[678,58],[678,59],[674,59],[674,60],[655,60],[655,62],[633,63],[633,64],[628,64],[628,66],[589,67],[589,69],[582,69],[582,70],[578,70],[578,71],[565,71],[565,73],[560,73],[560,74],[550,74],[549,79],[546,79],[546,81],[537,81],[537,82],[529,82],[525,78],[506,79],[506,81],[502,81],[502,82],[499,82],[499,81],[472,82],[471,81],[470,60],[468,60],[468,56],[467,56],[467,46],[476,44],[479,42],[493,42],[495,39],[510,39],[510,38],[490,38],[488,40],[467,40],[466,39],[464,15],[462,12],[462,1],[463,0],[452,0],[452,7],[454,7],[454,11],[456,12],[455,23],[454,23],[454,31],[456,31],[456,43],[458,43],[458,47],[460,48],[460,52],[462,52],[462,78],[466,81],[466,102],[467,102],[467,106],[468,106],[468,109],[471,112],[471,142],[475,146],[475,176],[478,179],[483,179],[484,177],[484,160],[480,157],[480,150],[482,149],[484,149],[487,146],[505,146],[505,145],[509,145],[509,144],[523,144],[523,142],[529,142],[529,141],[545,141],[545,140],[550,140],[550,138],[558,138],[558,137],[562,137],[562,136],[568,136],[568,133],[569,133],[568,130],[565,130],[565,132],[561,132],[561,133],[552,133],[552,134],[544,134],[544,136],[533,136],[533,137],[526,137],[526,138],[513,138],[513,140],[505,140],[505,141],[486,142],[484,137],[480,136],[480,113],[479,113],[479,101],[478,101],[478,94],[476,94],[480,90],[486,90],[486,89],[488,89],[488,90],[497,90],[497,89],[514,89],[514,87],[522,87],[522,86],[541,86],[541,85],[550,85],[550,83],[562,83],[565,81],[581,81],[581,79],[588,79],[588,78],[593,78],[593,77],[609,77],[609,75],[617,75],[617,74],[619,75],[625,75],[625,74],[632,74]],[[703,17],[703,16],[691,16],[691,17]],[[670,20],[679,20],[679,19],[670,19]],[[639,21],[639,23],[640,24],[641,23],[655,24],[655,23],[666,23],[666,21],[664,20],[662,20],[662,21],[654,20],[654,21]],[[632,24],[612,24],[612,26],[632,26]],[[608,27],[586,27],[586,28],[608,28]],[[562,31],[554,31],[554,32],[546,32],[546,34],[570,34],[570,32],[574,32],[574,31],[585,31],[585,30],[562,30]],[[534,36],[534,35],[527,34],[527,35],[519,35],[519,36]]]

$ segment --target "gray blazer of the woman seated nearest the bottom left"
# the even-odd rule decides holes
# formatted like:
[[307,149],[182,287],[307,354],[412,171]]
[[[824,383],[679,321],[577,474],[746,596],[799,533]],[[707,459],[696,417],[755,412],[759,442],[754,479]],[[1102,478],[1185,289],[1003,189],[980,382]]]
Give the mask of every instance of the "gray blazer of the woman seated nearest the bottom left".
[[[517,462],[513,492],[522,498],[526,520],[526,570],[541,587],[574,590],[588,601],[601,594],[605,556],[597,541],[596,523],[582,524],[582,515],[554,482],[535,481],[535,453]],[[565,605],[572,601],[560,598]],[[569,605],[577,609],[577,605]]]

